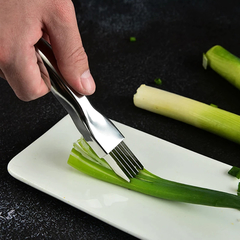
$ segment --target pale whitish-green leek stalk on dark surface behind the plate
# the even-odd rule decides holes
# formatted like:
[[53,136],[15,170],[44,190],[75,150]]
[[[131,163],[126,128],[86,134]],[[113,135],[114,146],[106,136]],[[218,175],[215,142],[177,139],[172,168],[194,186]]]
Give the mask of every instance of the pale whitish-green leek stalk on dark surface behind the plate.
[[240,116],[161,89],[141,85],[135,106],[204,129],[240,144]]

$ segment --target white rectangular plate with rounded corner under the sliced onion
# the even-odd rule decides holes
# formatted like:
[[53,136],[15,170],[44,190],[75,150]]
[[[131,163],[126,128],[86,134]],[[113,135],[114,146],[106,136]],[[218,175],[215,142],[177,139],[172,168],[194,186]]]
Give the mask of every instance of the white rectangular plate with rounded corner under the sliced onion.
[[[170,180],[236,194],[231,166],[116,123],[149,171]],[[20,181],[141,239],[239,239],[240,212],[157,199],[105,183],[67,164],[79,133],[69,116],[14,157]]]

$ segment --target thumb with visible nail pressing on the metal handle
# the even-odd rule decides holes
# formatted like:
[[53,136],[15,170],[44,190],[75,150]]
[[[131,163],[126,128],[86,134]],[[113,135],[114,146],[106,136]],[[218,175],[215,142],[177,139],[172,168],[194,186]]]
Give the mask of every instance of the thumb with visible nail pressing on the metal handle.
[[67,1],[63,2],[64,8],[56,8],[54,16],[51,18],[50,15],[51,20],[46,20],[48,24],[45,24],[53,53],[58,69],[68,84],[80,94],[91,95],[95,91],[95,82],[89,70],[74,7],[71,1],[67,6]]

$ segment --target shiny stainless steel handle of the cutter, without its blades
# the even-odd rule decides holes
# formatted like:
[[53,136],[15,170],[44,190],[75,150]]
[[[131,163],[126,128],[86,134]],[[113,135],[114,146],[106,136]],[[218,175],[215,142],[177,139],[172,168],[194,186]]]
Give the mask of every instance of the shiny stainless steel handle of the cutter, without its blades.
[[[52,54],[51,46],[44,39],[41,39],[40,43]],[[124,139],[123,135],[110,120],[92,107],[85,96],[77,94],[53,67],[46,55],[40,49],[38,51],[49,73],[51,92],[67,110],[77,129],[96,154],[104,157]]]

